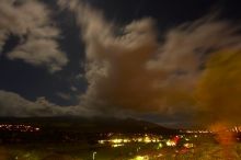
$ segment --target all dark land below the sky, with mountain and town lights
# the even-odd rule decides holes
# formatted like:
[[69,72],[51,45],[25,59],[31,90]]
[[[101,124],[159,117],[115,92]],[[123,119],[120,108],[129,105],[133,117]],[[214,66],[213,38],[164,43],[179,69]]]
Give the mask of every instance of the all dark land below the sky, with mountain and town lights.
[[241,160],[240,128],[232,130],[233,142],[220,145],[208,132],[129,118],[0,122],[0,160]]

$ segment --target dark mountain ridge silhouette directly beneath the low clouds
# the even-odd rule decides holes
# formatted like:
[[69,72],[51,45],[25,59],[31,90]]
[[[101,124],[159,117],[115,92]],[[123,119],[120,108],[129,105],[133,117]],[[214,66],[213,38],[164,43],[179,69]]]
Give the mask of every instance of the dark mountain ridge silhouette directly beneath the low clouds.
[[28,124],[45,130],[74,133],[174,134],[177,132],[146,121],[116,117],[0,117],[1,123]]

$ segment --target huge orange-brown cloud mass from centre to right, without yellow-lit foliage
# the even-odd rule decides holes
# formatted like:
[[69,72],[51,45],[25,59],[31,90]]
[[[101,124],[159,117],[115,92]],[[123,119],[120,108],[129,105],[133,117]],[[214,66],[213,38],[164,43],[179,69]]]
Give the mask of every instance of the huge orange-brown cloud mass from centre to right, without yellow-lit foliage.
[[59,0],[59,4],[76,13],[85,43],[89,87],[82,103],[104,112],[199,112],[204,106],[195,92],[209,56],[241,47],[239,27],[225,20],[206,16],[185,23],[159,42],[152,19],[118,27],[80,1]]

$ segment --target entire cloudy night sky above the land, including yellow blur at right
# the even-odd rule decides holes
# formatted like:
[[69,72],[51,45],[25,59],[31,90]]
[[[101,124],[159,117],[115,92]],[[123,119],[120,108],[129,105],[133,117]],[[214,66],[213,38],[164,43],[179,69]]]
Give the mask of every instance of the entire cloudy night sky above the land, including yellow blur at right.
[[0,116],[240,123],[240,7],[0,0]]

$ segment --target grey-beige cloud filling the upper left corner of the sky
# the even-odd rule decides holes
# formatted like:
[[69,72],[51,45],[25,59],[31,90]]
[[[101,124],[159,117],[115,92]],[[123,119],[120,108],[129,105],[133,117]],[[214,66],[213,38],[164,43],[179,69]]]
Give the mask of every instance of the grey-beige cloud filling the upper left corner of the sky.
[[1,0],[0,31],[0,52],[10,34],[20,37],[18,46],[8,53],[9,59],[46,67],[50,72],[68,62],[59,49],[60,32],[50,20],[50,10],[37,0]]

